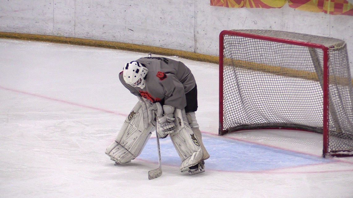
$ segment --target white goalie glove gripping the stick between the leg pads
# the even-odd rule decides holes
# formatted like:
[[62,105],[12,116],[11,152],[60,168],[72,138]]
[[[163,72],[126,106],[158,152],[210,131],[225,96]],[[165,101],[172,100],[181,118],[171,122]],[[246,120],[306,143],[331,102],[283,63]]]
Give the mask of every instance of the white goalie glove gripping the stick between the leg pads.
[[175,131],[174,110],[173,106],[163,105],[163,116],[157,116],[158,138],[164,138]]

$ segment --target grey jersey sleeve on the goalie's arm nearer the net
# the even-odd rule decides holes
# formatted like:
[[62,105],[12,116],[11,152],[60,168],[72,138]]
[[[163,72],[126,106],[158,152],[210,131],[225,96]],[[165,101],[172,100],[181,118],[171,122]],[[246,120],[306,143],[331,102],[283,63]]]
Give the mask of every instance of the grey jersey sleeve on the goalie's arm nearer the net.
[[161,83],[164,89],[164,104],[174,106],[177,109],[184,109],[186,97],[183,84],[173,74],[166,74]]

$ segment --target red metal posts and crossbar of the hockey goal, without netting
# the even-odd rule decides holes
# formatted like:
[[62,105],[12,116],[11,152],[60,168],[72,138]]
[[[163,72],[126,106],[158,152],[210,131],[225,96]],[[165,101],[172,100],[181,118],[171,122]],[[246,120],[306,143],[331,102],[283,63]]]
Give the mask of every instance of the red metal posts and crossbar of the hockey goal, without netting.
[[[225,35],[247,37],[251,39],[259,39],[264,41],[280,42],[291,45],[298,45],[310,48],[317,48],[323,51],[323,157],[329,152],[329,48],[324,45],[310,42],[301,42],[294,40],[279,39],[275,37],[268,37],[262,35],[253,35],[248,33],[242,33],[237,31],[223,30],[219,35],[219,135],[225,135],[227,133],[236,132],[238,130],[225,130],[223,128],[223,38]],[[283,128],[283,127],[270,127],[270,128],[258,128],[258,129],[288,129],[288,130],[304,130],[298,128]],[[250,130],[250,129],[239,129],[239,130]],[[312,130],[305,130],[312,132]]]

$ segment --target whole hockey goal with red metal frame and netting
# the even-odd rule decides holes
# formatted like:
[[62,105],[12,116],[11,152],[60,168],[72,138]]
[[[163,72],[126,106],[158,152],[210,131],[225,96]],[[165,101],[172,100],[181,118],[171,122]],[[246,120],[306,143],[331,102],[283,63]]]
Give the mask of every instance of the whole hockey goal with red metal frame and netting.
[[219,58],[219,135],[305,130],[323,133],[323,157],[353,156],[353,87],[344,41],[223,30]]

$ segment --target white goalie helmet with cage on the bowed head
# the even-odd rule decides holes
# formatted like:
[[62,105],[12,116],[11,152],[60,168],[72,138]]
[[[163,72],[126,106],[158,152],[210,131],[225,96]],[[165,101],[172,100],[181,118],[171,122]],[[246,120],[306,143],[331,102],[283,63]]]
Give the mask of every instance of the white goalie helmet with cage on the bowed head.
[[122,70],[124,81],[133,87],[141,89],[146,85],[145,77],[147,72],[148,69],[136,61],[126,63],[126,66]]

